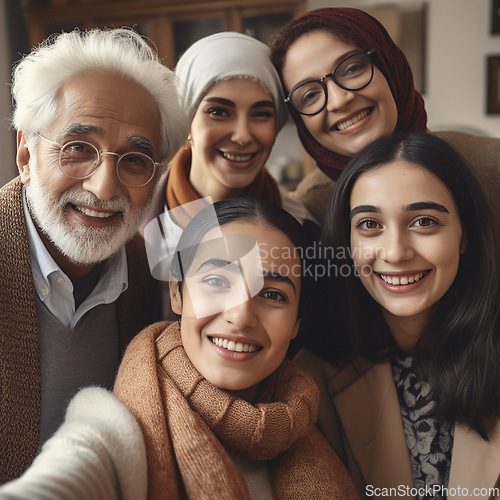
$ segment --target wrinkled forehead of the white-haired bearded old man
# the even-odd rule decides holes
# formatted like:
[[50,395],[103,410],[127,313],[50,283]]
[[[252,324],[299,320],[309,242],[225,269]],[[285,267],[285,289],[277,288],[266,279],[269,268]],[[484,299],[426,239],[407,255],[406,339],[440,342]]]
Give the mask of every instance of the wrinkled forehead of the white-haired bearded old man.
[[97,127],[105,135],[138,136],[160,149],[160,113],[153,97],[120,75],[86,72],[66,81],[58,94],[58,115],[49,130],[64,133],[74,124]]

